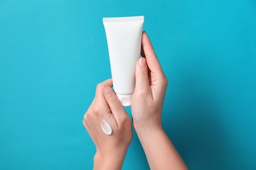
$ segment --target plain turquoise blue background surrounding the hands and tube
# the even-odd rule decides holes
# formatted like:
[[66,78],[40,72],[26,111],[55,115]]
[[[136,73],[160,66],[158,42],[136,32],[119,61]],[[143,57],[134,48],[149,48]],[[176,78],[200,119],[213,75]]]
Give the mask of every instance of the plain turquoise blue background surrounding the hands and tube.
[[[144,15],[163,126],[190,169],[256,169],[256,1],[0,0],[0,169],[92,169],[104,16]],[[129,109],[127,109],[129,111]],[[149,169],[136,134],[123,169]]]

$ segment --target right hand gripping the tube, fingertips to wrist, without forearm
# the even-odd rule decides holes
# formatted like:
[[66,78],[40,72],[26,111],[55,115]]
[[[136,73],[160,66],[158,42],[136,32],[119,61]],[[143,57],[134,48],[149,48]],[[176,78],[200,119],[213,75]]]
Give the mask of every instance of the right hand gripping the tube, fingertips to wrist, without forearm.
[[136,86],[131,100],[136,131],[161,128],[161,110],[168,84],[146,32],[142,33],[142,56],[137,62]]

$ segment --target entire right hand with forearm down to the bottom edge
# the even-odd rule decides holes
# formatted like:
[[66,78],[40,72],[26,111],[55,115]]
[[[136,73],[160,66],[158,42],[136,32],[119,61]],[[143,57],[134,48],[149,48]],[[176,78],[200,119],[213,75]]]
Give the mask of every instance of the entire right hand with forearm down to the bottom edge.
[[142,33],[142,56],[135,72],[131,113],[150,169],[188,169],[161,126],[168,80],[146,32]]

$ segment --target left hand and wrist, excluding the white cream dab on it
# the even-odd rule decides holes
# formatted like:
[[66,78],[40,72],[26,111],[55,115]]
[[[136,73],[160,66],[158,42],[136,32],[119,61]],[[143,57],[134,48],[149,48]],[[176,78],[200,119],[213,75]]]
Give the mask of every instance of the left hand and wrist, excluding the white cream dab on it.
[[[129,115],[111,86],[112,79],[98,84],[95,99],[83,118],[83,125],[96,146],[94,169],[121,169],[133,138]],[[102,120],[112,127],[111,135],[102,131]]]

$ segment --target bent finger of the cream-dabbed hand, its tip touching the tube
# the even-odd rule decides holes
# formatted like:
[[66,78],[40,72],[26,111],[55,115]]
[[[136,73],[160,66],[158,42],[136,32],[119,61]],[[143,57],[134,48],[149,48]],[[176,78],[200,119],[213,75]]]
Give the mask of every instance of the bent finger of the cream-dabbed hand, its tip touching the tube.
[[99,83],[96,87],[94,103],[95,107],[98,109],[106,110],[108,108],[108,103],[106,102],[106,99],[104,98],[103,94],[104,87],[106,86],[113,86],[112,78]]

